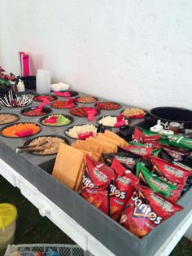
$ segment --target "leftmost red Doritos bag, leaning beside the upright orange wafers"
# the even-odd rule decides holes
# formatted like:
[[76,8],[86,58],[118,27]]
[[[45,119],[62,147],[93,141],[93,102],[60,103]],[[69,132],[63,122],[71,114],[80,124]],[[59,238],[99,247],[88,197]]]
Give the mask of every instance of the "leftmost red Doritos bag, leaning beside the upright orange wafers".
[[81,196],[92,205],[109,214],[108,186],[116,178],[113,170],[86,157],[87,166],[82,179]]

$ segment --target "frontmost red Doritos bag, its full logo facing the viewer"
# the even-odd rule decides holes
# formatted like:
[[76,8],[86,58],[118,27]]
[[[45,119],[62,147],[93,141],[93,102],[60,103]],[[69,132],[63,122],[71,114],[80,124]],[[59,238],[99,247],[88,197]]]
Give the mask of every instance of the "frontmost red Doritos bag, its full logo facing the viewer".
[[136,186],[120,217],[120,224],[135,236],[142,237],[183,208],[155,193]]

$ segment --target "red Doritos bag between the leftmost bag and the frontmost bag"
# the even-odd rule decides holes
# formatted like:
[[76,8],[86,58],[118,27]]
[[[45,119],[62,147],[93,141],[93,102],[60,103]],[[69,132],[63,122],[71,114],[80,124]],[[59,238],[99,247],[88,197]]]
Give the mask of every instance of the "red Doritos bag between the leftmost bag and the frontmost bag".
[[118,177],[109,185],[110,216],[118,220],[124,204],[133,194],[133,184],[139,183],[139,179],[130,170],[122,166],[116,158],[113,159],[111,168]]

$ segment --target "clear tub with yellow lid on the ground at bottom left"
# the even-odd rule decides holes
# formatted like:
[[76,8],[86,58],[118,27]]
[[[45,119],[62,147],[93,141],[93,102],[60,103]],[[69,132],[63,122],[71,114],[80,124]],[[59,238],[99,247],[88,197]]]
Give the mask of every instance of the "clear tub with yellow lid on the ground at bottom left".
[[14,205],[0,204],[0,249],[6,249],[15,237],[17,210]]

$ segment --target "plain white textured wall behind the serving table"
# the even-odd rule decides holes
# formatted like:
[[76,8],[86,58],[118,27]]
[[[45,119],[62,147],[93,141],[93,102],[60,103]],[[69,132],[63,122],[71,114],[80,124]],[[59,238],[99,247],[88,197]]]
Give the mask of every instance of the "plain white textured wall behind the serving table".
[[0,0],[0,64],[126,104],[191,108],[191,0]]

